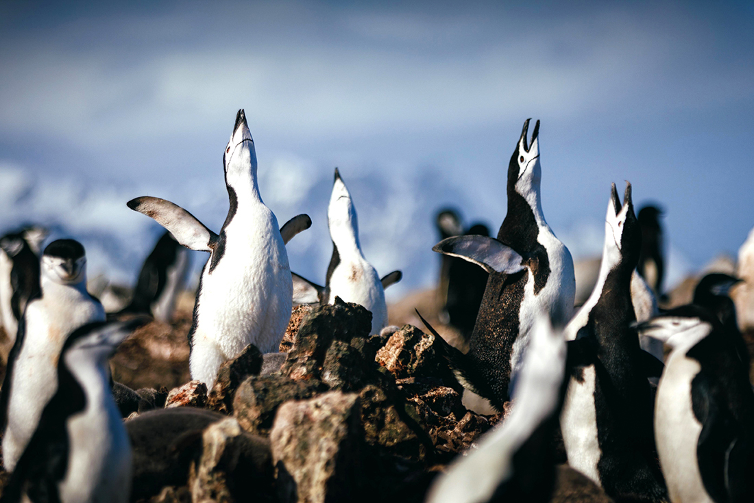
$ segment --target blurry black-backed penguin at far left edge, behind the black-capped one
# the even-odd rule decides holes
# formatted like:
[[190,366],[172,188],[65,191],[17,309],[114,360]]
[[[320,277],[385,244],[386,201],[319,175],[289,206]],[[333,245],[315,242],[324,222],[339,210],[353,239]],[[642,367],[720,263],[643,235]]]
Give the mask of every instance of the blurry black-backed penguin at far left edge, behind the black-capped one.
[[39,290],[39,258],[29,244],[26,231],[0,238],[0,312],[11,343],[26,303]]

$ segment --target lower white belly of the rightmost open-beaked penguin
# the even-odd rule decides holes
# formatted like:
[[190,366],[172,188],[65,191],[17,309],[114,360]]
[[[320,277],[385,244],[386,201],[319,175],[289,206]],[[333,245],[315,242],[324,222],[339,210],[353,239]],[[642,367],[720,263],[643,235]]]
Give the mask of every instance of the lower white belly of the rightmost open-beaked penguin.
[[568,464],[602,486],[597,463],[602,457],[597,437],[597,414],[594,404],[596,385],[594,365],[581,369],[581,380],[571,377],[566,400],[560,414],[560,428]]

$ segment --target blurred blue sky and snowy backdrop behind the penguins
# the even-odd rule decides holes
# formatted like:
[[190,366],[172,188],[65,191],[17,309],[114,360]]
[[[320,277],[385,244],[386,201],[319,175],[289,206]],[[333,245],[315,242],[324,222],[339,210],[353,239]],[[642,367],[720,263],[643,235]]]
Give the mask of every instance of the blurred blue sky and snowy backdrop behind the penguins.
[[527,117],[576,257],[601,249],[611,181],[664,207],[676,276],[754,225],[752,2],[104,3],[0,4],[0,212],[78,236],[123,281],[158,233],[131,197],[219,229],[238,108],[265,202],[314,220],[289,251],[317,281],[334,166],[400,293],[434,278],[438,208],[498,227]]

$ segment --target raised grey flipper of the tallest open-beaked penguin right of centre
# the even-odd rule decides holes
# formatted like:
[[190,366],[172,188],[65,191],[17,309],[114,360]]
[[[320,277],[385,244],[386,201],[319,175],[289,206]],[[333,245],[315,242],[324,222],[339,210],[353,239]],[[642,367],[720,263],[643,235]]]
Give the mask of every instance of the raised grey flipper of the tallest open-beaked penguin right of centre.
[[432,251],[462,258],[477,264],[488,273],[513,274],[524,270],[521,255],[489,236],[474,234],[449,237],[434,245]]

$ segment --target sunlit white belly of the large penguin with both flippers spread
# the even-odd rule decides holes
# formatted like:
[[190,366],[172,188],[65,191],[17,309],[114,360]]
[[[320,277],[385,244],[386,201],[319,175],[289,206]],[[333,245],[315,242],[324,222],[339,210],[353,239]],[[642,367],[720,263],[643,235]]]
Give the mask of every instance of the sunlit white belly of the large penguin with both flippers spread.
[[277,240],[265,241],[260,233],[236,235],[228,225],[222,258],[211,272],[212,258],[204,266],[189,364],[192,377],[207,386],[213,385],[219,364],[249,344],[277,352],[287,328],[293,282],[277,222],[272,223]]

